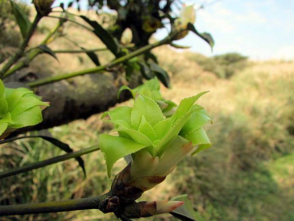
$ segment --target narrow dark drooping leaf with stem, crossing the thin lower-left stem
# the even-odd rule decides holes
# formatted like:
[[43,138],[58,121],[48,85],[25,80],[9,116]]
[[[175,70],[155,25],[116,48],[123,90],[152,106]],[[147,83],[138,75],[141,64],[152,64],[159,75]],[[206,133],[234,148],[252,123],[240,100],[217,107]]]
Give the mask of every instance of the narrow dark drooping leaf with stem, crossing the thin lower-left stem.
[[[12,142],[12,141],[17,140],[17,139],[42,138],[42,139],[52,143],[54,146],[59,147],[61,150],[65,151],[67,153],[73,152],[73,149],[67,143],[62,142],[59,139],[52,138],[48,131],[44,132],[44,130],[42,130],[42,131],[40,131],[40,133],[41,133],[41,135],[23,136],[23,137],[14,137],[14,138],[3,139],[3,140],[0,140],[0,144],[7,143],[7,142]],[[42,134],[46,134],[46,136],[42,135]],[[79,166],[82,168],[83,173],[84,173],[84,175],[86,177],[86,169],[85,169],[85,164],[84,164],[83,159],[81,157],[76,157],[75,160],[78,162]]]

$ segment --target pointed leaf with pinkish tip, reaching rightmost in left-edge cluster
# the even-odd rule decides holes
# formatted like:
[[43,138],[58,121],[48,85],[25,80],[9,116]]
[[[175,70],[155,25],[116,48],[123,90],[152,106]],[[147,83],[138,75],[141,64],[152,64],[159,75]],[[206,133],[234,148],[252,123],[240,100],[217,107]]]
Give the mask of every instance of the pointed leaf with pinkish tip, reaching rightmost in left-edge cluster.
[[49,106],[49,104],[40,101],[34,96],[24,96],[15,104],[10,113],[14,116],[35,106]]

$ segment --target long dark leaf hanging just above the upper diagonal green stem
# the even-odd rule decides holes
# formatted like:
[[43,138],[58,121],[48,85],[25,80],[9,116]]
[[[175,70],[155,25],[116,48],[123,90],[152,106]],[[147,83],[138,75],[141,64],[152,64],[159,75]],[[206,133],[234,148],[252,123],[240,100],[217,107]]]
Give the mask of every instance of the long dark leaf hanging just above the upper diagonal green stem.
[[112,52],[112,54],[118,56],[119,48],[113,36],[107,30],[102,28],[102,26],[100,26],[96,21],[91,21],[83,15],[81,15],[80,17],[94,28],[93,32],[96,34],[96,36],[98,36],[98,38],[101,39],[101,41]]

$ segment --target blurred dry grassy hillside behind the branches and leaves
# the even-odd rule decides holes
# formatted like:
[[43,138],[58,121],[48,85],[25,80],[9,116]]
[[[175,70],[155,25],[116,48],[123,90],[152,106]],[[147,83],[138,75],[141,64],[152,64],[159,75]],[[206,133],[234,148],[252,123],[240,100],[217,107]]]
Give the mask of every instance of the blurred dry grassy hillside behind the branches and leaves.
[[[73,40],[84,42],[85,47],[96,44],[101,47],[96,38],[86,41],[77,27],[68,26],[66,31]],[[39,33],[34,41],[40,41],[42,35]],[[57,49],[56,44],[62,42],[68,44],[65,48],[73,47],[64,39],[51,47]],[[188,193],[195,209],[207,221],[294,221],[294,62],[250,62],[245,69],[236,70],[230,79],[221,79],[196,62],[201,55],[178,53],[169,47],[158,48],[154,53],[172,76],[172,89],[162,87],[167,99],[178,103],[184,97],[210,90],[199,104],[213,118],[213,124],[206,127],[213,146],[195,157],[185,158],[166,181],[142,198],[168,199]],[[110,55],[103,53],[100,58],[103,61]],[[84,55],[83,63],[72,55],[60,55],[59,59],[60,64],[40,57],[31,68],[56,71],[58,66],[57,71],[68,71],[92,65]],[[208,58],[201,56],[201,59]],[[49,68],[44,70],[44,65]],[[52,128],[51,132],[78,150],[97,144],[99,133],[110,130],[111,126],[102,123],[97,114]],[[41,140],[25,140],[0,148],[0,154],[0,170],[4,170],[62,152]],[[95,152],[83,159],[88,172],[85,179],[77,163],[70,160],[0,180],[0,204],[78,198],[106,192],[111,180],[107,178],[102,154]],[[123,166],[125,162],[119,161],[113,175]],[[98,211],[3,218],[11,219],[94,221],[114,218]],[[172,218],[164,215],[143,220]]]

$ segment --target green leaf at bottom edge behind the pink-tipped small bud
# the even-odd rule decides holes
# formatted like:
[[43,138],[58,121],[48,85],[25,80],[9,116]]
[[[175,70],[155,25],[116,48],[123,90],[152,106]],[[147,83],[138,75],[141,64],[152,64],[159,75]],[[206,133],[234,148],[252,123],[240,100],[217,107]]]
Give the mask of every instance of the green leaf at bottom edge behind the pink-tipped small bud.
[[204,219],[193,209],[193,203],[187,194],[175,196],[171,200],[185,202],[185,204],[170,213],[172,216],[182,221],[204,221]]

